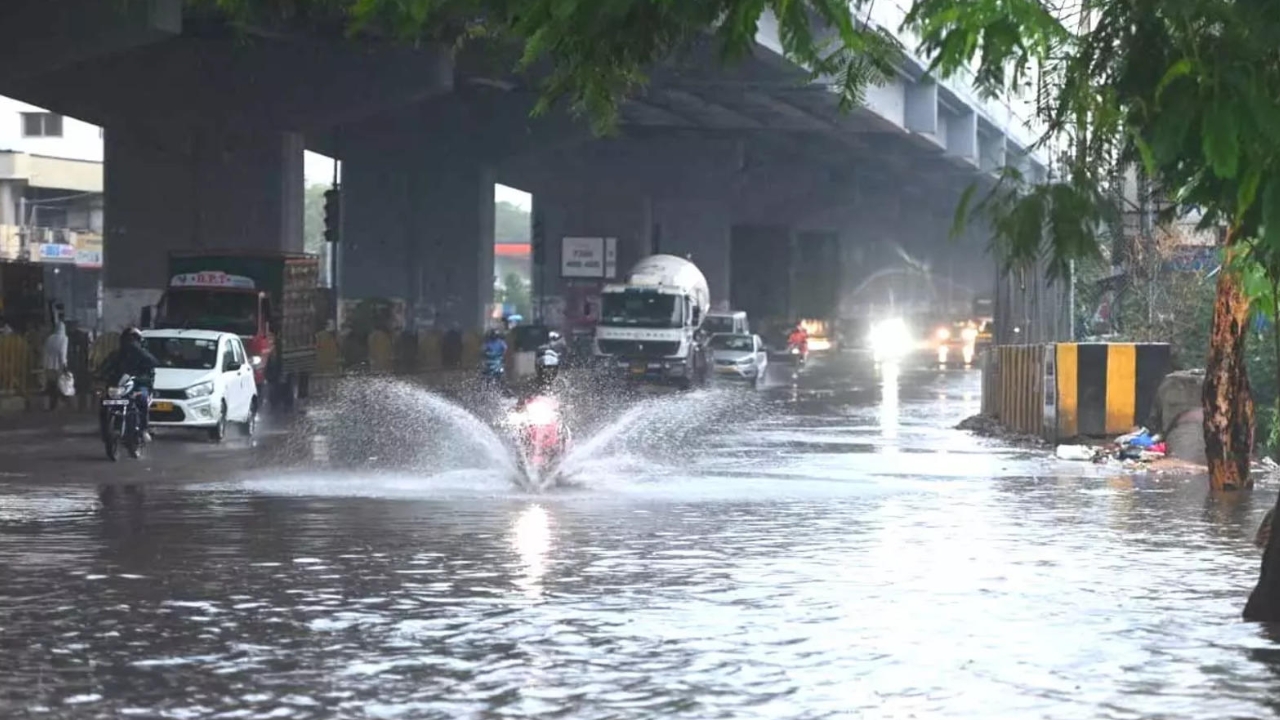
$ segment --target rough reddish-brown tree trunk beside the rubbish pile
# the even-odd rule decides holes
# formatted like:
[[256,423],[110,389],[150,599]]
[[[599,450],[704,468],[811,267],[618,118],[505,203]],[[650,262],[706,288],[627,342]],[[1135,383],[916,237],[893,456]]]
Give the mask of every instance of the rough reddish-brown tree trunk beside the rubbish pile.
[[1249,461],[1253,452],[1253,397],[1244,366],[1244,333],[1249,300],[1230,269],[1233,232],[1226,234],[1226,258],[1217,274],[1213,325],[1204,368],[1204,455],[1210,488],[1235,491],[1253,487]]

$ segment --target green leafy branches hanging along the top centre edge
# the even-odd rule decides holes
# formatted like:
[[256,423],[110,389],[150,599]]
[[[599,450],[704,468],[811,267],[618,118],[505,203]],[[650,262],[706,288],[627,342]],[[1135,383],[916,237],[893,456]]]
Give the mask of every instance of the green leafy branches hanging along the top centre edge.
[[[710,36],[726,60],[750,54],[767,14],[777,18],[783,55],[833,86],[846,106],[893,73],[892,33],[859,22],[872,0],[191,0],[212,3],[253,24],[285,18],[338,24],[346,32],[454,45],[511,45],[516,70],[540,72],[535,113],[567,101],[598,131],[648,72]],[[541,72],[544,70],[545,72]]]

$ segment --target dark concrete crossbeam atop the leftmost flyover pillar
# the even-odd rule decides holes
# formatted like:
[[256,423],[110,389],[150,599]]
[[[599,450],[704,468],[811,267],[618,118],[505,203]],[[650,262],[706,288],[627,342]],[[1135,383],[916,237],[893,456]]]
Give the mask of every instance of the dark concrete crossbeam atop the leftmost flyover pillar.
[[166,122],[302,131],[452,87],[445,50],[311,40],[177,37],[4,82],[0,91],[110,126],[145,108]]

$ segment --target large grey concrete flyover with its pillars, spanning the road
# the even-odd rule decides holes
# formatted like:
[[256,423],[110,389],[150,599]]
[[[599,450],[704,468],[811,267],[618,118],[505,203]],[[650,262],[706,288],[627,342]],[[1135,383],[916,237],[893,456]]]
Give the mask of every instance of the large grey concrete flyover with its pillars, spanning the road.
[[[617,137],[598,140],[563,113],[531,119],[536,79],[494,72],[509,63],[485,51],[353,44],[324,27],[233,31],[182,0],[50,5],[0,6],[0,24],[37,28],[26,50],[0,49],[0,94],[106,128],[109,324],[155,297],[169,250],[300,250],[306,147],[343,160],[343,295],[467,327],[492,297],[495,181],[535,196],[544,296],[590,295],[593,282],[559,277],[558,259],[559,237],[590,236],[617,238],[620,266],[654,250],[692,255],[724,302],[735,233],[783,246],[831,233],[846,268],[879,266],[858,260],[872,246],[973,263],[980,237],[940,250],[961,188],[1006,164],[1044,173],[1024,151],[1025,110],[936,83],[906,58],[865,108],[842,113],[778,55],[768,23],[740,65],[695,47],[655,68]],[[895,27],[900,13],[877,3],[868,22]]]

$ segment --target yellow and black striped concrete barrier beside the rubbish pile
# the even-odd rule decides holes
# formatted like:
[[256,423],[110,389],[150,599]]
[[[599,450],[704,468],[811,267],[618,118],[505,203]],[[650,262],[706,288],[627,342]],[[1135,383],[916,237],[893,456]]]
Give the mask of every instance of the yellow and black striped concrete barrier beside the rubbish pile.
[[982,407],[1053,442],[1117,436],[1147,419],[1169,370],[1166,343],[1002,345],[986,360]]

